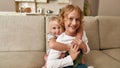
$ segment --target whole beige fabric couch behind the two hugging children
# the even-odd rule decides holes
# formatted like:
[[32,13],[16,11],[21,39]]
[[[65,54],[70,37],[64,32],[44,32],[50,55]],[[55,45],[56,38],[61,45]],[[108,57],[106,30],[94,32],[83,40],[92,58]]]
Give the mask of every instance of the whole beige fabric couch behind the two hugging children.
[[[46,52],[44,16],[0,16],[0,68],[41,68]],[[46,23],[47,24],[47,23]],[[120,17],[85,17],[95,68],[120,68]]]

